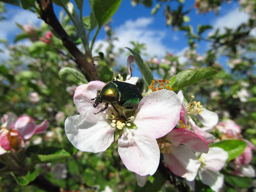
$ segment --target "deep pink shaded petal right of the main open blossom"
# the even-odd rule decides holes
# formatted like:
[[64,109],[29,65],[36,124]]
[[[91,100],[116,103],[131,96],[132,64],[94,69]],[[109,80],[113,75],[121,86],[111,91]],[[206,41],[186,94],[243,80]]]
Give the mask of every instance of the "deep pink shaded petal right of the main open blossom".
[[172,142],[175,147],[183,144],[195,152],[207,153],[209,150],[209,145],[204,138],[195,134],[195,132],[189,131],[188,129],[173,129],[169,134],[167,134],[165,139]]

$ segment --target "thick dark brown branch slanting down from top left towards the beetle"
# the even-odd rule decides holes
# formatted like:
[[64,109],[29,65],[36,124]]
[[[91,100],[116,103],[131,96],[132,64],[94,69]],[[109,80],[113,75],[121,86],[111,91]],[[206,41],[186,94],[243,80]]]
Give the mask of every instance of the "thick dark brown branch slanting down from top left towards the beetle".
[[42,20],[45,21],[45,23],[49,24],[56,33],[60,36],[63,45],[68,49],[70,54],[74,56],[76,59],[77,65],[83,70],[84,76],[88,81],[93,81],[93,80],[99,80],[99,75],[97,74],[97,71],[95,70],[95,66],[93,65],[93,62],[90,63],[87,59],[86,56],[83,54],[83,52],[79,51],[77,49],[76,45],[66,31],[62,28],[60,22],[58,21],[53,7],[52,7],[52,1],[51,0],[37,0],[37,3],[39,4],[40,7],[40,17]]

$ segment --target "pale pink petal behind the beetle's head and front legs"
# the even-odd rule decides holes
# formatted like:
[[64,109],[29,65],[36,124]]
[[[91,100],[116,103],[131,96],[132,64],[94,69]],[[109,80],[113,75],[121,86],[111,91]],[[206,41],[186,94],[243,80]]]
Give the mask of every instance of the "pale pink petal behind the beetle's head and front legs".
[[[79,113],[85,113],[93,108],[94,99],[97,96],[97,91],[101,90],[106,83],[101,81],[90,81],[88,84],[82,84],[76,88],[74,94],[74,104],[77,107]],[[103,108],[103,104],[99,104],[97,108],[93,110],[94,113],[100,111]]]

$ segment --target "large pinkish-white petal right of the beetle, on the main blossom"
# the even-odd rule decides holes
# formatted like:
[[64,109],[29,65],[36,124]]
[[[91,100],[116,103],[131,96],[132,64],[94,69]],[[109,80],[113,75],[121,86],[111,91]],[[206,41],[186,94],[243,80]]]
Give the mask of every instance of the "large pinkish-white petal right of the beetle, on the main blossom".
[[141,99],[134,117],[138,129],[151,131],[155,138],[161,138],[179,122],[180,100],[172,91],[150,93]]

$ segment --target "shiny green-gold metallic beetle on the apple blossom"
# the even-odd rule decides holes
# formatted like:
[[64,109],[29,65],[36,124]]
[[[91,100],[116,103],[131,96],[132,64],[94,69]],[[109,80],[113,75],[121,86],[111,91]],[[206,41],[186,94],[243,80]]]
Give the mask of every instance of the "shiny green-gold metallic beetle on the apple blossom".
[[[125,109],[137,109],[142,99],[140,89],[135,84],[125,83],[122,81],[111,81],[106,84],[102,90],[98,90],[93,107],[96,108],[100,103],[105,102],[105,107],[98,113],[108,109],[108,104],[118,104]],[[118,110],[113,106],[115,111]],[[97,114],[97,113],[95,113]],[[119,114],[119,113],[118,113]]]

